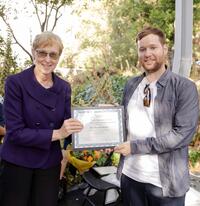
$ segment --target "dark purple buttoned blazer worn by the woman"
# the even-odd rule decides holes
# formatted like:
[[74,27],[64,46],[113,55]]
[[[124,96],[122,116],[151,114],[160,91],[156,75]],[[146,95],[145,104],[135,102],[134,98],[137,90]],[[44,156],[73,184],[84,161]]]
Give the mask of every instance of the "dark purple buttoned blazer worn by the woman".
[[71,87],[53,74],[53,87],[45,89],[34,76],[34,66],[11,75],[5,84],[6,136],[2,159],[28,168],[50,168],[60,164],[60,141],[51,141],[71,117]]

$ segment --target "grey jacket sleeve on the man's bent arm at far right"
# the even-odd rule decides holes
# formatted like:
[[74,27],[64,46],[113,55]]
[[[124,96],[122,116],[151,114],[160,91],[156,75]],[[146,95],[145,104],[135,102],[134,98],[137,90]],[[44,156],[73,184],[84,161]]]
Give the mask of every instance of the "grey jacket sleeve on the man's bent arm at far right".
[[[171,130],[163,135],[131,141],[132,154],[165,153],[188,146],[196,132],[199,116],[199,100],[196,85],[186,81],[179,85],[175,113],[172,116]],[[169,111],[170,112],[170,111]],[[160,114],[160,118],[165,118]],[[160,125],[165,127],[165,125]]]

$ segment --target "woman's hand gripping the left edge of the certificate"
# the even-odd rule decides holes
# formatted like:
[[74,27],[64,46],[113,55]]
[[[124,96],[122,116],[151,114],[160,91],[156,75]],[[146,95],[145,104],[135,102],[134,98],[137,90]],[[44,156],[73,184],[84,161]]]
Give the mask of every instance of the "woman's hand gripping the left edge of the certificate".
[[67,119],[63,122],[60,129],[53,130],[52,141],[64,139],[72,133],[80,132],[82,129],[83,124],[79,120]]

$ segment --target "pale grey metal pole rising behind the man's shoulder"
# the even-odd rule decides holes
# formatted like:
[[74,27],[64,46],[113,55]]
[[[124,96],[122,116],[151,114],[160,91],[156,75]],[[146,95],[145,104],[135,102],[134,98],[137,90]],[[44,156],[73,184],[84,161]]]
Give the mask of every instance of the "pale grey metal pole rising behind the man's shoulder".
[[193,0],[176,0],[172,71],[189,77],[192,64]]

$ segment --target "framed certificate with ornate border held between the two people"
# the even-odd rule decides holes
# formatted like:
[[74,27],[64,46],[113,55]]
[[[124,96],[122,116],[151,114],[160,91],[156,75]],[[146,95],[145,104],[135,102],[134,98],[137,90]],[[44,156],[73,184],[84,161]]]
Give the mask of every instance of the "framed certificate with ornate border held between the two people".
[[84,126],[72,135],[73,149],[111,148],[124,140],[122,106],[73,108],[72,116]]

